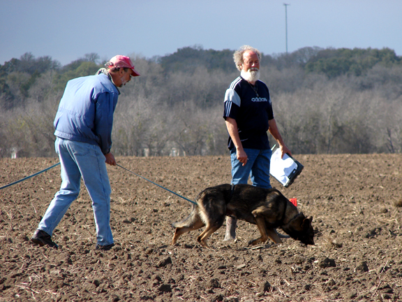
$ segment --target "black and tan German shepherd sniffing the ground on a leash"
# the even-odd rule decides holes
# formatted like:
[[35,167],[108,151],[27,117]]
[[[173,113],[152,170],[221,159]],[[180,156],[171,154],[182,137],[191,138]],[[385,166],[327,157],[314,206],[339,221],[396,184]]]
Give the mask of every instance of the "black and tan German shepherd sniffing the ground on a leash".
[[196,202],[185,220],[172,224],[176,228],[172,245],[182,234],[206,225],[197,241],[208,247],[207,239],[222,227],[226,215],[257,224],[261,237],[251,240],[249,245],[264,243],[268,238],[274,243],[282,243],[276,232],[278,227],[295,240],[306,245],[314,244],[313,217],[306,218],[299,213],[297,207],[277,189],[224,184],[204,189],[198,194]]

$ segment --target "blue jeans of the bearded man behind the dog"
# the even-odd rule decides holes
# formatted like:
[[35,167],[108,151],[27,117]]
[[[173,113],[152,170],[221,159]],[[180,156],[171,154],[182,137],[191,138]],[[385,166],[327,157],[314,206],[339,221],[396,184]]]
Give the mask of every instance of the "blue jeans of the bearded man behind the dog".
[[271,161],[271,150],[244,149],[247,154],[247,164],[242,166],[237,159],[236,149],[230,150],[232,161],[232,184],[246,184],[248,175],[255,187],[271,188],[269,182],[269,163]]

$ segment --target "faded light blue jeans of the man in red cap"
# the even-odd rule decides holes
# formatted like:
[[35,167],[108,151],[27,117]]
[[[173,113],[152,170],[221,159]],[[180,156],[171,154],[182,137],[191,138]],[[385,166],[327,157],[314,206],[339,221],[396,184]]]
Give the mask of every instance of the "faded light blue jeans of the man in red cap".
[[46,210],[38,229],[52,236],[54,229],[80,194],[81,177],[92,200],[99,245],[113,243],[110,229],[110,189],[105,155],[98,145],[57,138],[54,143],[61,164],[61,187]]

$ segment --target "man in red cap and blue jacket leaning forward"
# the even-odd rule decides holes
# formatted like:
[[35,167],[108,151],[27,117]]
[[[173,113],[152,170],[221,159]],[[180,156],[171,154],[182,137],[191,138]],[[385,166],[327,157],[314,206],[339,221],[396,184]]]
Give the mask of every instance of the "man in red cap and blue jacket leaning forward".
[[55,148],[61,164],[61,188],[46,210],[31,242],[57,248],[52,233],[80,193],[81,178],[92,201],[96,250],[110,250],[110,182],[106,164],[116,165],[112,147],[113,113],[118,87],[140,75],[129,57],[117,55],[96,75],[68,81],[54,119]]

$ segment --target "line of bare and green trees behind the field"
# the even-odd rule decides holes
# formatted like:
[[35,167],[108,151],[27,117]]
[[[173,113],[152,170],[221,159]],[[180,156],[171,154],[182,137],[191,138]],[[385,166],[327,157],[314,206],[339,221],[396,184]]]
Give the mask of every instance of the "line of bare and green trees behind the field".
[[[121,89],[114,154],[227,154],[223,96],[239,75],[233,52],[194,45],[163,57],[132,54],[141,76]],[[54,157],[66,82],[104,63],[96,53],[66,66],[26,53],[0,65],[0,157]],[[394,50],[307,47],[263,54],[260,70],[294,154],[402,152],[402,57]]]

